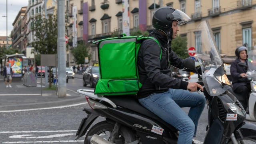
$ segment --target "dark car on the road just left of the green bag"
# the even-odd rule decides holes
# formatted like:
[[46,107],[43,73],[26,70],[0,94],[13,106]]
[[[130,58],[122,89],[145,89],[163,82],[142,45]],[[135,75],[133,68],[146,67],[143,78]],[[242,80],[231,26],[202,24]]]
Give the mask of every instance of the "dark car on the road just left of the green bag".
[[90,84],[94,88],[96,81],[100,78],[98,66],[88,66],[83,74],[83,86]]

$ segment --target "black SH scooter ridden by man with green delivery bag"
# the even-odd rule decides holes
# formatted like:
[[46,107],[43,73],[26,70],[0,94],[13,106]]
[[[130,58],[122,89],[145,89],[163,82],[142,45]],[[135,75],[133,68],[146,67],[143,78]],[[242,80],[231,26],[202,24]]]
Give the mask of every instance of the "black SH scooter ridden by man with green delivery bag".
[[[184,67],[198,74],[208,104],[208,126],[204,144],[245,144],[256,142],[256,125],[244,122],[246,112],[228,89],[224,64],[216,49],[208,21],[201,22],[196,37],[202,38],[202,50],[196,64],[186,58]],[[211,64],[209,70],[206,65]],[[199,90],[198,92],[200,92]],[[76,139],[86,134],[84,144],[177,144],[178,130],[144,108],[136,95],[98,96],[93,90],[80,89],[90,108],[76,132]],[[98,116],[106,118],[88,130]]]

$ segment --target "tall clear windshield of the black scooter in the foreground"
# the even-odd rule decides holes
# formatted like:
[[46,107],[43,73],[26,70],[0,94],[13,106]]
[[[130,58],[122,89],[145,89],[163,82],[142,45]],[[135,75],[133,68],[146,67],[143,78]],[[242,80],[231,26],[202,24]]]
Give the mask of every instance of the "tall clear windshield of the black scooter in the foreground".
[[196,28],[196,54],[208,94],[218,96],[230,88],[231,82],[226,76],[208,20],[201,22]]

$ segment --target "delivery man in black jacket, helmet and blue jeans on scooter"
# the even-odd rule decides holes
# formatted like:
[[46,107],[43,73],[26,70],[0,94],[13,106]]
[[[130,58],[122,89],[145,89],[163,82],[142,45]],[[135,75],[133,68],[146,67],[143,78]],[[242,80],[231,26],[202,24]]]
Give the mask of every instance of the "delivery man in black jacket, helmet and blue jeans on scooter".
[[[202,86],[171,77],[170,65],[184,68],[182,62],[170,48],[169,42],[176,38],[179,31],[178,24],[185,24],[190,20],[184,12],[170,7],[156,10],[152,18],[155,28],[150,37],[142,42],[138,54],[138,72],[143,84],[138,92],[139,102],[148,110],[168,122],[180,131],[178,144],[194,144],[198,120],[204,109],[206,99],[195,91]],[[187,90],[190,90],[187,91]],[[188,115],[181,109],[191,107]]]

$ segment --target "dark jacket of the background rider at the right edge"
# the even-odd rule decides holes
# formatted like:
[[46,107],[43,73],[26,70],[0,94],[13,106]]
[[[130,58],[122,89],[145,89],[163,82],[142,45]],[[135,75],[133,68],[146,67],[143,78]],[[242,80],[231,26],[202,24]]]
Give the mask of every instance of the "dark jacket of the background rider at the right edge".
[[236,90],[236,88],[238,88],[239,86],[244,86],[248,83],[250,83],[249,80],[247,80],[247,78],[239,78],[238,76],[240,76],[240,74],[242,73],[246,73],[248,68],[246,68],[245,66],[239,66],[238,63],[241,62],[239,60],[239,58],[237,58],[236,60],[234,60],[231,63],[230,66],[230,73],[232,76],[232,85],[233,88],[232,90]]

